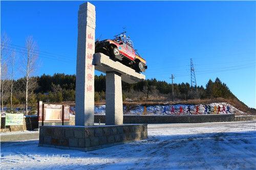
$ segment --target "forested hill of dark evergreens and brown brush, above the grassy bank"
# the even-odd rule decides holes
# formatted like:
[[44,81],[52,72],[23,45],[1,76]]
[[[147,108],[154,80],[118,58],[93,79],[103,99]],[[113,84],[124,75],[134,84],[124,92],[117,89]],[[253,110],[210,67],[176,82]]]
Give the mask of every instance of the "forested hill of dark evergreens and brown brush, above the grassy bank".
[[[63,102],[75,100],[75,75],[54,74],[33,77],[36,82],[31,89],[30,103],[37,100],[44,102]],[[8,81],[5,81],[6,85]],[[172,84],[156,79],[145,80],[136,84],[122,82],[123,99],[133,101],[141,100],[170,100],[172,99]],[[24,99],[24,81],[18,79],[14,82],[13,103],[21,104]],[[4,91],[8,99],[8,90]],[[95,76],[95,101],[102,101],[105,98],[105,76]],[[190,87],[189,83],[174,84],[174,98],[176,101],[197,100],[197,99],[217,99],[224,98],[230,101],[237,101],[240,105],[247,107],[239,101],[229,90],[225,83],[219,78],[215,81],[209,80],[206,86]],[[4,100],[8,105],[10,100]],[[4,104],[4,105],[5,105]],[[248,108],[248,107],[247,107]]]

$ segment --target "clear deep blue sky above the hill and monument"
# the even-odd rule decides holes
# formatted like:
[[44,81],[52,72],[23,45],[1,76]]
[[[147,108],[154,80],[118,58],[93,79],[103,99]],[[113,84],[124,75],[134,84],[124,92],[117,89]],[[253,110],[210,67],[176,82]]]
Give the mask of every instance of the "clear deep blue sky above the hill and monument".
[[[22,49],[25,38],[34,37],[41,51],[36,75],[75,74],[82,3],[1,1],[1,33],[11,38],[10,49]],[[190,82],[193,58],[198,85],[219,77],[238,99],[256,107],[256,2],[91,3],[96,6],[96,38],[112,38],[125,27],[147,60],[146,78],[170,82],[174,74],[176,83]]]

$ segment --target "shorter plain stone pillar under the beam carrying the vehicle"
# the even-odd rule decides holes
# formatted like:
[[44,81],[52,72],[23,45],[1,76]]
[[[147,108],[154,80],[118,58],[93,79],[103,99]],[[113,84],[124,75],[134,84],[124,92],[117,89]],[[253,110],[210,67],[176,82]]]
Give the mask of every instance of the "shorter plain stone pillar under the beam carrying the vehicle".
[[123,100],[121,75],[106,72],[106,125],[123,124]]

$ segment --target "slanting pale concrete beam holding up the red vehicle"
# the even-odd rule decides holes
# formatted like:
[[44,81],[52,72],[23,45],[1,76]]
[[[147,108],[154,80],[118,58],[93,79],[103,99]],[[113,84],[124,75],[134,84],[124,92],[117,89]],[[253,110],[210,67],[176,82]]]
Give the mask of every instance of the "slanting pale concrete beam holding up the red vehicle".
[[145,75],[136,72],[134,69],[123,65],[118,61],[113,61],[109,56],[102,53],[94,54],[95,69],[101,72],[118,72],[121,75],[122,81],[126,83],[137,83],[145,80]]

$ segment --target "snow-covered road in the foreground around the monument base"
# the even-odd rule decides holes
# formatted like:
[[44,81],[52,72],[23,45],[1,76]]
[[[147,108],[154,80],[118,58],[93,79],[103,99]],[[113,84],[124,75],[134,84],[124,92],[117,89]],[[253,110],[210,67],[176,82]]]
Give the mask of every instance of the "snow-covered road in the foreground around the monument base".
[[[256,123],[148,125],[148,139],[92,152],[1,145],[2,169],[256,169]],[[70,155],[69,158],[66,158]]]

